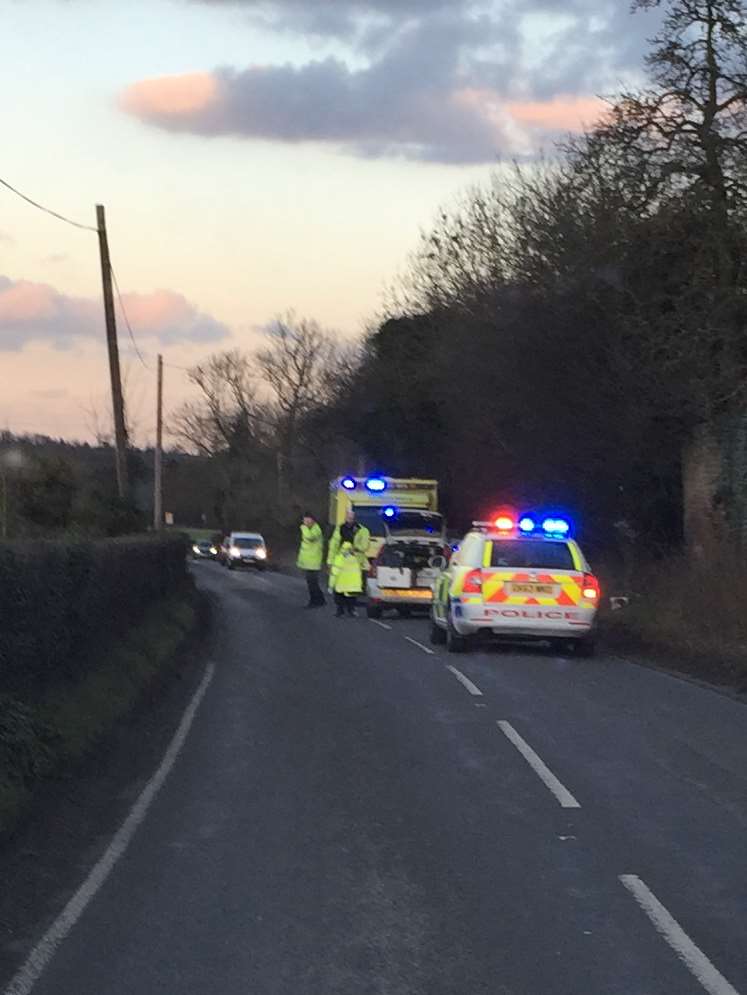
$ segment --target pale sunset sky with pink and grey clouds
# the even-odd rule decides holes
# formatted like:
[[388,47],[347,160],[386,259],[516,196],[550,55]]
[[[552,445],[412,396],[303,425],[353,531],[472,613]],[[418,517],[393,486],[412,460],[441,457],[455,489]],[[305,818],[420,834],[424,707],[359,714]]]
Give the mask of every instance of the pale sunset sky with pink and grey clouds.
[[[0,179],[107,214],[136,439],[292,309],[380,313],[441,205],[642,79],[626,0],[0,0]],[[0,187],[0,429],[110,421],[95,232]]]

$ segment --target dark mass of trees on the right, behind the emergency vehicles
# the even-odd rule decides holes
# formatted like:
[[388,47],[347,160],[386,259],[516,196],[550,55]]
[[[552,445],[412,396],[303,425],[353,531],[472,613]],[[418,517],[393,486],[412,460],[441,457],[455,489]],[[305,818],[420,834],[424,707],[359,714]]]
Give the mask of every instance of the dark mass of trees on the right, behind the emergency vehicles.
[[747,6],[664,5],[647,88],[422,236],[338,415],[457,516],[557,502],[707,555],[747,529]]

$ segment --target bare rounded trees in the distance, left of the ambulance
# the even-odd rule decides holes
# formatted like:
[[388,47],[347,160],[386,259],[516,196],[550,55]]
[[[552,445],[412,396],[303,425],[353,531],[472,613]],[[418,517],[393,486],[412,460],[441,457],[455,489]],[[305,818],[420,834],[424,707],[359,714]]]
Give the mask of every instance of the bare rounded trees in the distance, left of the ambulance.
[[356,355],[316,322],[292,313],[254,353],[219,353],[189,371],[199,391],[171,419],[188,450],[211,457],[225,527],[295,520],[329,479],[320,417],[352,376]]

